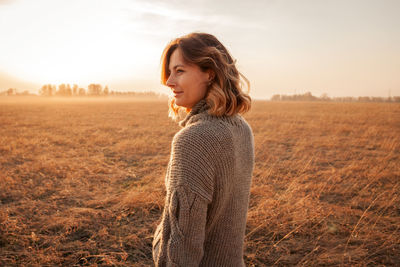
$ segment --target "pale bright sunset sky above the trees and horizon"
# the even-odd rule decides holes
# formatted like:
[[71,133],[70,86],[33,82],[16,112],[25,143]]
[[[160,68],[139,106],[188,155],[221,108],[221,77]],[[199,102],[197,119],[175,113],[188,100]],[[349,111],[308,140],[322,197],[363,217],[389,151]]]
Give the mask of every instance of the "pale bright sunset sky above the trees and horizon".
[[169,93],[162,50],[215,35],[250,95],[400,96],[398,0],[0,0],[0,91],[90,83]]

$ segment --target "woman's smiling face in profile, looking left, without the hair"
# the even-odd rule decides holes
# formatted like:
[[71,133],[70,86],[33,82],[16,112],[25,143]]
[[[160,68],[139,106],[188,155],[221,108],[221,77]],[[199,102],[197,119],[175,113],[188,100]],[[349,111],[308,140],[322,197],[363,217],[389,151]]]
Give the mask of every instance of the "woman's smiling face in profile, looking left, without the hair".
[[172,89],[177,106],[192,108],[205,97],[210,73],[186,63],[179,48],[172,53],[168,68],[170,75],[166,84]]

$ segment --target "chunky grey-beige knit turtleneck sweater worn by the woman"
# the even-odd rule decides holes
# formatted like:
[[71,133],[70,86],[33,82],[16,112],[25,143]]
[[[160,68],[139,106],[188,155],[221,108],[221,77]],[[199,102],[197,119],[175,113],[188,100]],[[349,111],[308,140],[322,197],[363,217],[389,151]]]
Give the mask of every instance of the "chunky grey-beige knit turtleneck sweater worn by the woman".
[[153,239],[156,266],[245,266],[254,140],[240,115],[209,115],[204,99],[180,122]]

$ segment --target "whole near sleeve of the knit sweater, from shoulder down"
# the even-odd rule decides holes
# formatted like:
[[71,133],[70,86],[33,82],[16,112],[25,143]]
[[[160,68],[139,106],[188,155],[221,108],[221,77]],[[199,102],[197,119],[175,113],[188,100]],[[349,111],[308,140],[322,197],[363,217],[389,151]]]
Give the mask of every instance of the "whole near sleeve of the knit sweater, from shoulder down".
[[199,266],[208,205],[214,194],[218,145],[204,127],[184,129],[174,137],[164,211],[153,240],[156,266]]

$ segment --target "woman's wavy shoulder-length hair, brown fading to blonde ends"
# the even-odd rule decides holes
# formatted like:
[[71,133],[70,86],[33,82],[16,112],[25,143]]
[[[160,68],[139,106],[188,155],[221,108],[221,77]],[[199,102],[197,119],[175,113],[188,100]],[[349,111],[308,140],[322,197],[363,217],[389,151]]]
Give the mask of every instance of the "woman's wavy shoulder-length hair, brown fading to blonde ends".
[[[169,62],[172,53],[180,49],[183,59],[188,64],[195,64],[202,71],[212,70],[214,78],[206,93],[206,102],[210,106],[209,114],[215,116],[232,116],[250,110],[251,98],[249,80],[240,73],[236,60],[232,58],[225,46],[208,33],[190,33],[172,40],[161,56],[161,83],[166,85],[169,78]],[[247,92],[243,88],[247,87]],[[179,117],[181,107],[175,104],[175,99],[169,99],[169,116],[174,120]],[[190,112],[190,109],[186,109]]]

